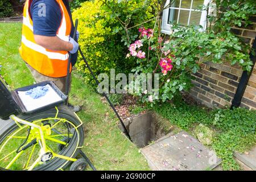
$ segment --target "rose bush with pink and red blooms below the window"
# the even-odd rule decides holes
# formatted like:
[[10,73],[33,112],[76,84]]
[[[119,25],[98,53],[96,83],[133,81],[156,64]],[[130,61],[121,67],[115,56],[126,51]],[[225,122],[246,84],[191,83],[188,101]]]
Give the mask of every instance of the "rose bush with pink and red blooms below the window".
[[[160,34],[157,27],[139,28],[138,40],[129,46],[126,59],[136,61],[133,72],[138,74],[137,80],[130,82],[129,87],[142,86],[138,84],[144,81],[139,76],[141,73],[160,74],[159,89],[148,92],[137,88],[140,92],[135,95],[141,96],[143,102],[165,102],[180,94],[181,90],[188,91],[193,86],[191,73],[196,73],[200,64],[206,61],[231,61],[231,64],[239,63],[244,70],[250,71],[249,55],[242,52],[242,43],[231,33],[214,35],[201,32],[195,26],[172,28],[172,35],[168,38]],[[226,34],[229,34],[228,38]]]

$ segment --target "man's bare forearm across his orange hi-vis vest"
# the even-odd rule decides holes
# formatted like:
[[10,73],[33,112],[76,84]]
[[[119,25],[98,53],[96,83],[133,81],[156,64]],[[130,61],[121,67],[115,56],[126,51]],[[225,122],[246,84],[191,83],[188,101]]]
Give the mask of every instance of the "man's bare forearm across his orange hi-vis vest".
[[46,49],[52,51],[72,51],[73,44],[61,40],[57,36],[43,36],[43,35],[34,35],[35,42]]

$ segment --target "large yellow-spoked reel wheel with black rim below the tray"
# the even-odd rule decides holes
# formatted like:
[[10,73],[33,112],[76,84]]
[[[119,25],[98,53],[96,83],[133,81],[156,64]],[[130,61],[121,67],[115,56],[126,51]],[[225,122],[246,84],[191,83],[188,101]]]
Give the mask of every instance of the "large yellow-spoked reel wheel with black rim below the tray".
[[[45,154],[40,152],[42,143],[36,139],[40,133],[35,128],[31,127],[30,130],[27,125],[18,126],[14,121],[0,125],[0,170],[54,171],[72,163],[68,158],[75,159],[79,154],[84,131],[80,119],[67,106],[61,105],[57,109],[53,107],[39,113],[17,116],[42,127],[46,139]],[[66,123],[75,129],[74,133]],[[65,138],[71,140],[68,143],[61,141]],[[63,145],[61,151],[59,144]]]

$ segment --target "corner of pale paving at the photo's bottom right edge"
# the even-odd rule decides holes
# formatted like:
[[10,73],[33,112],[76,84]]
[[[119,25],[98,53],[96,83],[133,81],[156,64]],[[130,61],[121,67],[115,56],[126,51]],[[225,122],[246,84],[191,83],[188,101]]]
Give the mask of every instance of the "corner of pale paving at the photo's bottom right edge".
[[256,170],[256,146],[245,154],[235,152],[234,156],[249,168]]

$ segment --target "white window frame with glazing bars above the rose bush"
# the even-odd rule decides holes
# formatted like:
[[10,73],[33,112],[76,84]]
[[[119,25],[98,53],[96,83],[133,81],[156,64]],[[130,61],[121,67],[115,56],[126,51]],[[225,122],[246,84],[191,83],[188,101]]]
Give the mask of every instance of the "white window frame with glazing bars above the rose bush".
[[[186,11],[189,11],[189,16],[188,16],[188,22],[191,18],[191,11],[201,11],[201,10],[194,10],[192,9],[192,5],[193,5],[193,0],[192,0],[192,3],[191,3],[191,7],[190,9],[184,9],[184,8],[180,8],[181,7],[181,1],[180,0],[180,5],[179,7],[172,7],[172,9],[174,10],[179,10],[179,13],[178,13],[178,20],[179,20],[179,16],[180,16],[180,10],[186,10]],[[211,0],[204,0],[204,5],[208,5],[208,3],[210,2]],[[166,1],[166,5],[164,5],[164,7],[168,6],[170,3],[170,0],[167,0]],[[172,24],[168,23],[168,19],[169,19],[169,11],[170,11],[170,7],[168,9],[165,9],[163,11],[163,18],[162,18],[162,28],[161,28],[161,32],[164,33],[164,34],[168,34],[170,35],[172,33],[171,31],[171,27],[172,27]],[[204,31],[207,27],[207,11],[206,10],[203,10],[201,11],[202,14],[201,14],[201,19],[200,19],[200,25],[203,27],[200,28],[200,31]],[[177,22],[179,23],[179,22]]]

